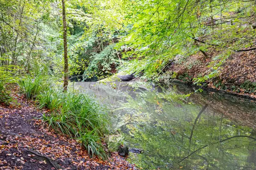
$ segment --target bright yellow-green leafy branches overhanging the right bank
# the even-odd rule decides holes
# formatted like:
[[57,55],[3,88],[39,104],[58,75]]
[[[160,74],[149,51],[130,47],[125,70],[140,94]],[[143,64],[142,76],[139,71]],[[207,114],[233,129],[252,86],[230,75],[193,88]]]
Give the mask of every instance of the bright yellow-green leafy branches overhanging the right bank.
[[117,45],[126,48],[122,57],[133,58],[123,70],[142,72],[142,78],[157,80],[169,59],[181,62],[182,58],[177,56],[189,57],[214,47],[222,54],[212,57],[207,75],[195,82],[216,77],[231,52],[253,44],[255,30],[250,24],[255,22],[251,18],[255,7],[252,4],[239,0],[224,4],[214,0],[136,1],[134,11],[125,18],[128,34]]

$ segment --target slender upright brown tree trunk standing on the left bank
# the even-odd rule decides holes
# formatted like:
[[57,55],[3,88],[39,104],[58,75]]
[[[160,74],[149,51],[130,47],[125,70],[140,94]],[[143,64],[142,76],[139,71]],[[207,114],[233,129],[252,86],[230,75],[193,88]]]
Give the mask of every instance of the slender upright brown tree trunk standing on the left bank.
[[63,44],[64,44],[64,86],[63,91],[67,91],[68,85],[68,61],[67,61],[67,22],[65,1],[62,0],[62,18],[63,18]]

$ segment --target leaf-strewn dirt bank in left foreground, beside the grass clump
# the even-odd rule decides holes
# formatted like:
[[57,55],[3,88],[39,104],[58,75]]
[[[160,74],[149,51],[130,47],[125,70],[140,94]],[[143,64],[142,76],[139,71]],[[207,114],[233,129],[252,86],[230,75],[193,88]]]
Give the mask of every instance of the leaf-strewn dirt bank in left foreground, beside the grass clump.
[[90,158],[74,139],[42,125],[32,102],[13,95],[17,106],[0,105],[0,170],[134,170],[117,153],[110,161]]

